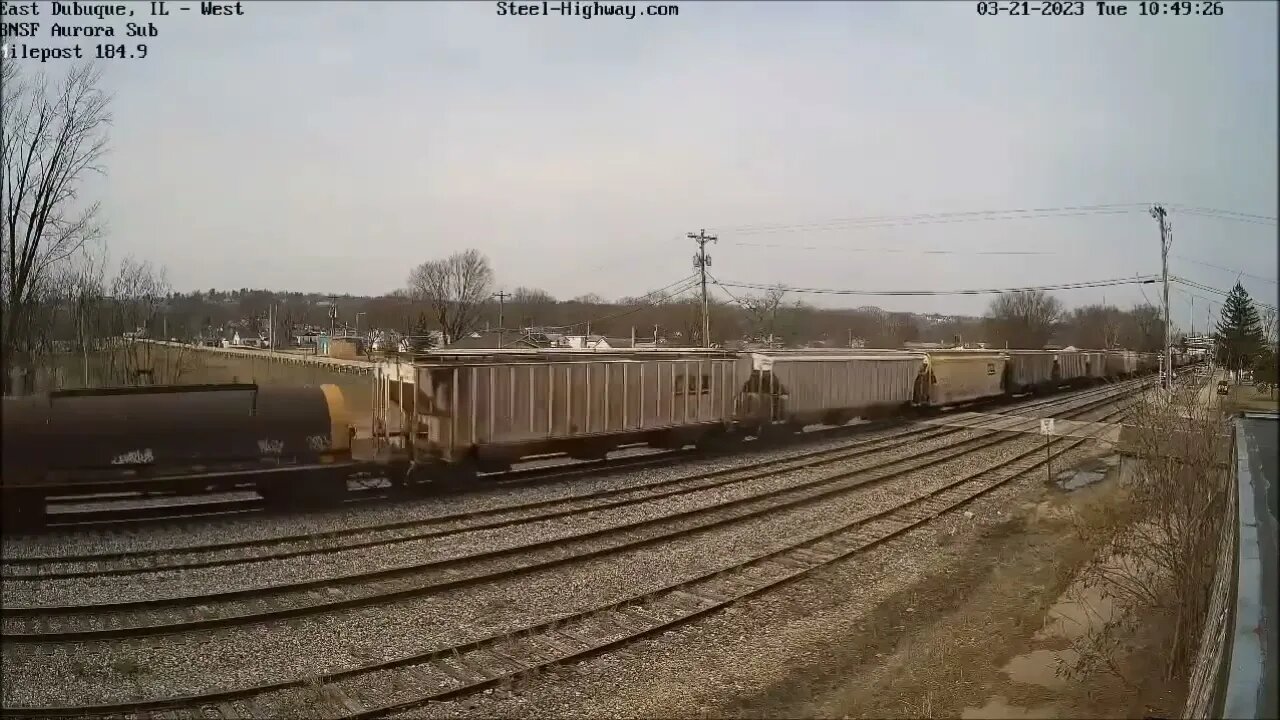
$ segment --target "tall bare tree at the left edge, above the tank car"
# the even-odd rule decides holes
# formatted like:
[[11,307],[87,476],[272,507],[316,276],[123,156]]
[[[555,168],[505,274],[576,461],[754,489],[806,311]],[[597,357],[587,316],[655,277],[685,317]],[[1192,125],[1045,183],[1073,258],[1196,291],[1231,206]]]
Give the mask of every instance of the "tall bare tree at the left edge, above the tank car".
[[32,365],[41,293],[54,269],[101,234],[97,204],[79,201],[87,173],[102,172],[109,97],[91,65],[73,68],[60,88],[24,79],[13,61],[0,63],[4,85],[0,142],[0,301],[4,304],[5,383],[15,364]]

